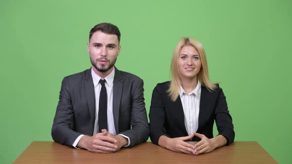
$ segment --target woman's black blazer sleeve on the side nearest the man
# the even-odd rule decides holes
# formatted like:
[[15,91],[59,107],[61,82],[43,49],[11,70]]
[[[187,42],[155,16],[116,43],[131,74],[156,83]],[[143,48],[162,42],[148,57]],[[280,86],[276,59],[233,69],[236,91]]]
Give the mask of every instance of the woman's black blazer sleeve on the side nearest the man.
[[153,89],[152,98],[151,98],[151,106],[149,112],[149,120],[150,120],[150,139],[154,144],[158,145],[158,140],[161,135],[166,134],[166,130],[164,127],[165,121],[165,106],[163,103],[161,90],[159,90],[159,85]]

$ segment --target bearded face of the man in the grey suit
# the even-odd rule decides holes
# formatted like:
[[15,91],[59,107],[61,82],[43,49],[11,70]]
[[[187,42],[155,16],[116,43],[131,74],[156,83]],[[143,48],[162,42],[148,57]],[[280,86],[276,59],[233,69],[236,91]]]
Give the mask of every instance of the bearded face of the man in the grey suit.
[[95,32],[87,43],[87,51],[94,70],[102,73],[110,73],[113,70],[120,49],[116,35],[105,34],[101,31]]

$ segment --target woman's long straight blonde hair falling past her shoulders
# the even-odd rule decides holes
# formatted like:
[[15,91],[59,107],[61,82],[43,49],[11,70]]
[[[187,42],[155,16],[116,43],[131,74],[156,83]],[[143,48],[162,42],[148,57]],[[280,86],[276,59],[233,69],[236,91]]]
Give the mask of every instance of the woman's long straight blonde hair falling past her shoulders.
[[181,86],[181,73],[179,70],[178,60],[179,55],[181,52],[181,49],[184,46],[193,46],[199,53],[199,59],[201,61],[201,68],[197,75],[198,80],[201,82],[202,85],[204,85],[208,90],[214,90],[217,86],[216,83],[212,83],[209,81],[209,73],[208,73],[208,65],[207,65],[207,59],[206,59],[206,53],[204,50],[204,47],[202,44],[191,37],[183,37],[180,39],[178,44],[176,45],[172,59],[171,59],[171,82],[169,89],[167,90],[170,98],[172,101],[176,101],[178,98],[179,92],[180,92],[180,86]]

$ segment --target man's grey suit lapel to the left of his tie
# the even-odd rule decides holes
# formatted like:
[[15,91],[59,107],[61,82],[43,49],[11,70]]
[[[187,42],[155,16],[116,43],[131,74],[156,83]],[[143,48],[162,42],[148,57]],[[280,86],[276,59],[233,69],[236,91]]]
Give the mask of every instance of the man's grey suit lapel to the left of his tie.
[[85,72],[85,94],[86,94],[86,99],[92,119],[92,133],[93,133],[93,128],[94,128],[94,123],[95,123],[95,117],[96,117],[96,96],[95,96],[95,88],[91,76],[91,69],[86,70]]

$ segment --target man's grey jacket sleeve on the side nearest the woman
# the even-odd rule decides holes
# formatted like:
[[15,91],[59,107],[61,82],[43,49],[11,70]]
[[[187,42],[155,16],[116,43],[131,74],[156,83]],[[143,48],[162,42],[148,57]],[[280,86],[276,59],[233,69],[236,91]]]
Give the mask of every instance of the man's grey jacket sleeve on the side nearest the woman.
[[143,80],[139,79],[134,82],[132,100],[131,100],[131,126],[130,130],[121,132],[128,136],[133,147],[142,142],[146,142],[149,136],[149,126],[144,102]]

